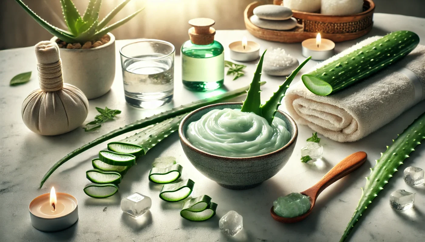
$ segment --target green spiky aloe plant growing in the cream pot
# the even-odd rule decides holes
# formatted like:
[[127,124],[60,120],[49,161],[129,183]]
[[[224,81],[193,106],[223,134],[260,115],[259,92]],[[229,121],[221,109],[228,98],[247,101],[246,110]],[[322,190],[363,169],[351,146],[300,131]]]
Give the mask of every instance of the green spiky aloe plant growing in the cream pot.
[[34,13],[34,11],[28,8],[28,6],[26,6],[22,0],[15,1],[38,24],[45,28],[45,30],[67,43],[85,43],[92,40],[98,40],[106,33],[125,24],[143,10],[143,8],[141,8],[124,19],[106,26],[112,20],[112,18],[115,17],[115,15],[131,0],[122,1],[101,21],[99,21],[99,9],[100,5],[102,4],[102,0],[89,0],[88,6],[83,16],[79,14],[72,0],[60,0],[60,3],[62,4],[63,17],[65,19],[66,25],[68,26],[68,31],[65,31],[49,24],[44,19],[39,17],[36,13]]

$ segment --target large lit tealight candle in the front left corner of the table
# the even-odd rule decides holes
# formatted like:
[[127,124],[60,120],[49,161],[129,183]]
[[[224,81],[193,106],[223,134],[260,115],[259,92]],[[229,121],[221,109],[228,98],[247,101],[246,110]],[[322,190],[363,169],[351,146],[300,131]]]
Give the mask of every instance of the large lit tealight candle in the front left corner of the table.
[[55,192],[34,198],[29,204],[31,224],[40,231],[60,231],[69,228],[78,220],[78,202],[74,196]]

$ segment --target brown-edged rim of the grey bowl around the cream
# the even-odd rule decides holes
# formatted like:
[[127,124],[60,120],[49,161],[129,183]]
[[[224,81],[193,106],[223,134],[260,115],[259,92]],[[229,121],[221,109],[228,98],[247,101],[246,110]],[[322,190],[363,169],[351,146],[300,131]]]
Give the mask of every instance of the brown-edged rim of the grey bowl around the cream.
[[297,136],[298,136],[298,127],[297,124],[295,123],[294,119],[292,119],[291,116],[289,116],[288,114],[286,114],[283,111],[278,110],[278,112],[280,114],[282,114],[283,116],[285,116],[288,120],[289,120],[289,124],[287,123],[286,125],[291,125],[294,128],[294,134],[291,136],[291,139],[289,140],[289,142],[284,145],[283,147],[281,147],[278,150],[272,151],[270,153],[267,154],[263,154],[263,155],[259,155],[259,156],[249,156],[249,157],[230,157],[230,156],[218,156],[218,155],[214,155],[214,154],[210,154],[205,152],[204,150],[198,149],[197,147],[195,147],[194,145],[192,145],[189,140],[186,138],[185,134],[183,133],[183,126],[186,124],[187,120],[196,112],[202,111],[206,108],[210,108],[210,107],[215,107],[215,106],[223,106],[223,105],[232,105],[232,104],[242,104],[239,102],[236,103],[216,103],[216,104],[211,104],[208,106],[204,106],[202,108],[198,108],[194,111],[191,111],[189,114],[186,115],[186,117],[184,117],[183,120],[181,120],[180,125],[178,126],[178,136],[180,137],[180,140],[182,142],[184,142],[185,145],[187,145],[188,147],[190,147],[191,150],[203,154],[203,155],[207,155],[213,158],[218,158],[218,159],[231,159],[231,160],[257,160],[259,158],[265,158],[269,155],[275,154],[275,153],[279,153],[280,151],[284,150],[286,147],[292,145],[292,143],[294,143],[297,140]]

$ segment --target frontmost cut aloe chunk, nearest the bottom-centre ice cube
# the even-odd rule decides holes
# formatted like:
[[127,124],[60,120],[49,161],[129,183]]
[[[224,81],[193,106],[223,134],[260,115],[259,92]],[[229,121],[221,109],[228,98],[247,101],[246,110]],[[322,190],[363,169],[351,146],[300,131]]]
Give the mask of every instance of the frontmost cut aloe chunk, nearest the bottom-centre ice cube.
[[211,197],[202,195],[183,203],[180,216],[186,220],[201,222],[214,217],[217,203],[211,202]]

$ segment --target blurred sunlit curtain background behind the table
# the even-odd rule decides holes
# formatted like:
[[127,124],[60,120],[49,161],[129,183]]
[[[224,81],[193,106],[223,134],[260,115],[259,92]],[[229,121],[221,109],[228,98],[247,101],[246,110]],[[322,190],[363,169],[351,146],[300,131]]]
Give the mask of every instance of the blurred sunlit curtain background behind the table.
[[[88,0],[73,0],[83,14]],[[122,0],[103,0],[100,17]],[[208,17],[215,20],[216,29],[245,29],[243,13],[254,0],[132,0],[111,21],[117,21],[140,7],[145,9],[112,33],[116,39],[153,38],[173,43],[176,50],[189,39],[189,19]],[[15,0],[0,0],[0,50],[35,45],[51,38]],[[66,28],[59,0],[23,0],[47,22]],[[263,0],[272,3],[272,0]],[[425,17],[425,0],[374,0],[375,12]],[[414,24],[414,23],[412,23]],[[424,26],[425,28],[425,26]]]

